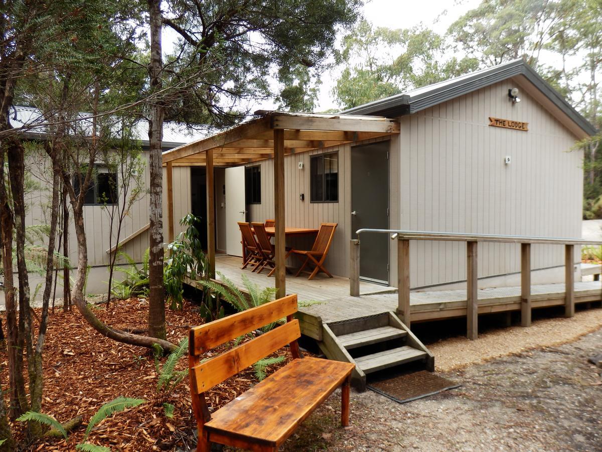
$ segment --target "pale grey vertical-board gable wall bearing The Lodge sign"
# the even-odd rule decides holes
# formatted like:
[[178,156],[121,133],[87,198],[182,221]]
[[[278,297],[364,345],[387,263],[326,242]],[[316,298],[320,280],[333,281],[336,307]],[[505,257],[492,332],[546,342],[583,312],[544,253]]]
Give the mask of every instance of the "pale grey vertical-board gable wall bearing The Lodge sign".
[[[581,236],[583,153],[573,149],[576,137],[529,93],[513,106],[513,86],[507,80],[400,118],[393,152],[400,153],[402,228]],[[489,116],[529,122],[529,131],[489,127]],[[536,245],[532,253],[533,268],[563,265],[562,246]],[[412,243],[412,287],[465,279],[465,254],[464,243]],[[479,277],[515,271],[520,246],[479,244]]]

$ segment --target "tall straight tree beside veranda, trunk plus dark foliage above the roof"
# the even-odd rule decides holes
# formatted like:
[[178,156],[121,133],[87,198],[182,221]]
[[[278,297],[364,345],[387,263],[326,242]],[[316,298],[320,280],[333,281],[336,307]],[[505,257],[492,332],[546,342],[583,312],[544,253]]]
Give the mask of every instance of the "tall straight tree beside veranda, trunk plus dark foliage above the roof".
[[[163,122],[225,127],[251,101],[312,107],[311,83],[337,32],[356,20],[361,0],[147,0],[150,30],[147,104],[150,142],[149,334],[165,336],[161,131]],[[163,60],[161,33],[177,36]]]

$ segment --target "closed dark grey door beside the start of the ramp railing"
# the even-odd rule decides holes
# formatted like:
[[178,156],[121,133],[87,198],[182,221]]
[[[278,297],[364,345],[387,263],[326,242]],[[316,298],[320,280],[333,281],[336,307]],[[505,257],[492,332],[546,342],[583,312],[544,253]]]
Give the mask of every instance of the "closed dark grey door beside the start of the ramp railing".
[[[351,148],[352,236],[361,228],[389,228],[389,142]],[[377,283],[389,281],[388,234],[360,237],[359,275]]]

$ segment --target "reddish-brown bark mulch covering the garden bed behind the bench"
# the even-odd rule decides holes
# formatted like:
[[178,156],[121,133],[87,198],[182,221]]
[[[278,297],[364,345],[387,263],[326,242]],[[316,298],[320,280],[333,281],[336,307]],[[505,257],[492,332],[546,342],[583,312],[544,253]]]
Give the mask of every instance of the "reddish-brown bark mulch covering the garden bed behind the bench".
[[[95,305],[96,315],[117,328],[139,330],[147,325],[146,300],[132,298],[104,305]],[[39,315],[39,310],[38,315]],[[5,315],[0,315],[2,321]],[[178,343],[193,325],[202,323],[196,307],[185,301],[182,311],[166,311],[167,339]],[[220,353],[216,349],[212,354]],[[273,356],[285,354],[280,350]],[[5,366],[6,351],[0,353]],[[287,358],[290,354],[287,354]],[[116,397],[134,397],[146,403],[100,422],[93,428],[87,442],[110,447],[119,451],[174,450],[192,447],[196,422],[191,412],[188,377],[175,390],[169,403],[175,405],[172,419],[164,415],[157,403],[158,374],[152,353],[144,348],[119,344],[96,333],[77,312],[63,313],[58,308],[51,315],[43,353],[44,392],[42,412],[66,422],[75,416],[83,416],[84,423],[65,439],[40,439],[26,444],[23,450],[66,451],[74,450],[82,442],[88,420],[102,404]],[[165,359],[161,359],[163,363]],[[271,366],[271,373],[285,362]],[[187,368],[187,359],[179,367]],[[253,368],[235,375],[209,392],[209,408],[218,409],[238,397],[257,383]],[[3,378],[2,391],[7,400],[8,378]],[[22,439],[19,422],[13,424],[17,437]]]

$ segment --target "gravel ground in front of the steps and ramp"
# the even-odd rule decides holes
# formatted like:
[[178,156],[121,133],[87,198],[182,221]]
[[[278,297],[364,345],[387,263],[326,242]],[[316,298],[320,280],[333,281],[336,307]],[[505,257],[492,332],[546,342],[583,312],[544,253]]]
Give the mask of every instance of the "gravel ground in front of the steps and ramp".
[[441,373],[462,387],[412,403],[353,391],[347,429],[338,425],[335,394],[285,450],[602,450],[602,369],[587,362],[601,352],[598,329],[570,344]]

